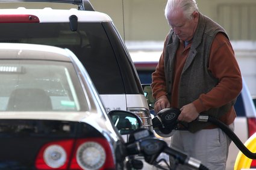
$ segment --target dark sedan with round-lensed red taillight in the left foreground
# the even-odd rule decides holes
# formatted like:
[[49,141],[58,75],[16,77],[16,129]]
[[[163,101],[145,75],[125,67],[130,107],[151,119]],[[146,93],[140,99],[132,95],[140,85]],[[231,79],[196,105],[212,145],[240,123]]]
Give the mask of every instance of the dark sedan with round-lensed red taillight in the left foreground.
[[74,53],[0,43],[0,61],[0,169],[124,169],[125,142]]

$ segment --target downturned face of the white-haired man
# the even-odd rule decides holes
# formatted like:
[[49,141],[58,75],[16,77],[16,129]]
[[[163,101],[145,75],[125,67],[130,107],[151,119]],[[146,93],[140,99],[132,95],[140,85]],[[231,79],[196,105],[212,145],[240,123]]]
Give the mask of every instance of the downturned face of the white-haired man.
[[177,10],[176,13],[170,14],[167,19],[174,33],[183,41],[190,41],[196,31],[198,25],[198,11],[192,14],[192,19],[187,19],[182,10]]

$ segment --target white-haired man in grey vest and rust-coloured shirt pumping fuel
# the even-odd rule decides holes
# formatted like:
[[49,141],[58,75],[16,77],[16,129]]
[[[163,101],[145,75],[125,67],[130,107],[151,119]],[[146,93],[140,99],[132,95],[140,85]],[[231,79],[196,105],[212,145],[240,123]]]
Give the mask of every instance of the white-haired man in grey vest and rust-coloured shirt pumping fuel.
[[207,114],[234,130],[233,105],[242,90],[242,76],[233,47],[225,30],[201,14],[195,0],[167,1],[165,16],[171,29],[152,74],[155,112],[179,108],[183,124],[173,134],[171,147],[209,169],[223,170],[231,140],[212,124],[194,120]]

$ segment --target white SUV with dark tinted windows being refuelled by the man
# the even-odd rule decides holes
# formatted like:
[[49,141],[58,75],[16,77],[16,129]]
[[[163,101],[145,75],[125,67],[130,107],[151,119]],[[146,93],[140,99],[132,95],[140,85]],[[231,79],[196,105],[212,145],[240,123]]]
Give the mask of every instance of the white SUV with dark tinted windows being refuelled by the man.
[[[0,0],[1,7],[7,2]],[[46,44],[67,48],[88,71],[105,110],[130,111],[152,130],[149,108],[130,54],[113,20],[95,11],[88,0],[11,1],[19,8],[0,9],[2,43]],[[48,2],[45,8],[29,9],[26,4]],[[76,8],[54,9],[51,2],[65,2]],[[73,6],[72,6],[73,7]]]

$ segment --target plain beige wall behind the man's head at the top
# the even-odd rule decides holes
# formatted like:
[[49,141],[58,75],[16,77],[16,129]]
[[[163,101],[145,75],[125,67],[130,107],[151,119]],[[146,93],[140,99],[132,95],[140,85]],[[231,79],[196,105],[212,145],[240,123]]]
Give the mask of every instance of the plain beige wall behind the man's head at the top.
[[[169,25],[164,17],[166,0],[90,0],[90,2],[95,10],[107,13],[114,20],[125,40],[161,41],[169,31]],[[255,0],[198,0],[197,3],[203,14],[226,29],[231,40],[256,40]]]

